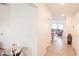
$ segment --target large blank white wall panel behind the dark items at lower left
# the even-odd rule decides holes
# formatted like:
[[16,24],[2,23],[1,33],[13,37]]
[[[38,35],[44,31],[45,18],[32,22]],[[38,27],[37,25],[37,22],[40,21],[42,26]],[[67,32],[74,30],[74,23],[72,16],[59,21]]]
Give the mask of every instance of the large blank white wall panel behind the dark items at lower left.
[[37,55],[37,13],[30,4],[10,4],[10,44],[31,48],[32,55]]

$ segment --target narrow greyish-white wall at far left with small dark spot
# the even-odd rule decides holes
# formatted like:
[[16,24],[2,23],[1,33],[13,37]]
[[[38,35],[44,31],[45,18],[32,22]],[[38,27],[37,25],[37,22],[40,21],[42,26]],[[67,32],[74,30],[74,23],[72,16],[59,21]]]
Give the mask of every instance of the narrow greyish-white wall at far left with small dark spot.
[[[9,47],[9,5],[0,5],[0,42],[3,43],[3,47]],[[1,35],[4,33],[4,35]]]

